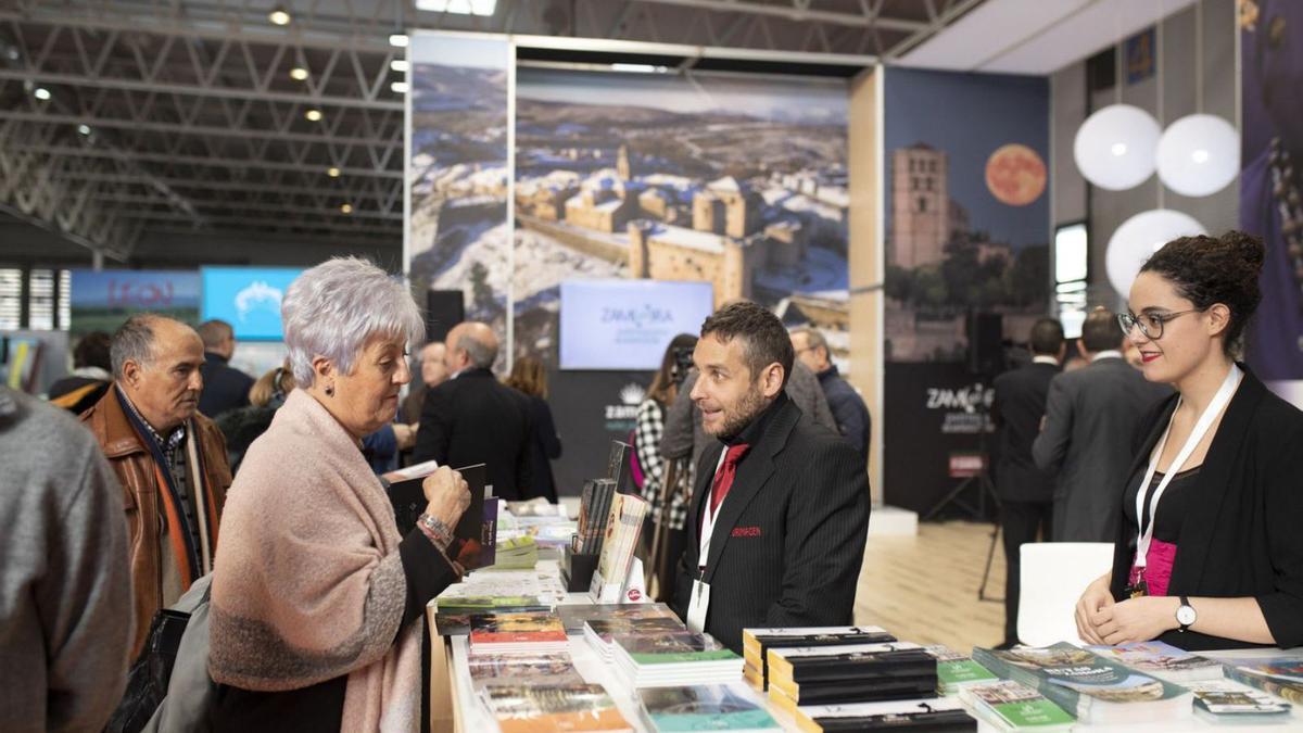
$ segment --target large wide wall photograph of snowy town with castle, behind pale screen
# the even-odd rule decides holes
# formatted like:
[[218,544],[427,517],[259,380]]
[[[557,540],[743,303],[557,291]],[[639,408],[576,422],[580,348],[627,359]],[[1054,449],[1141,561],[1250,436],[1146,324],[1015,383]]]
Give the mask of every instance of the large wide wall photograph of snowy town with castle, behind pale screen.
[[517,352],[555,364],[558,286],[586,277],[706,280],[844,359],[846,117],[839,81],[517,69]]

